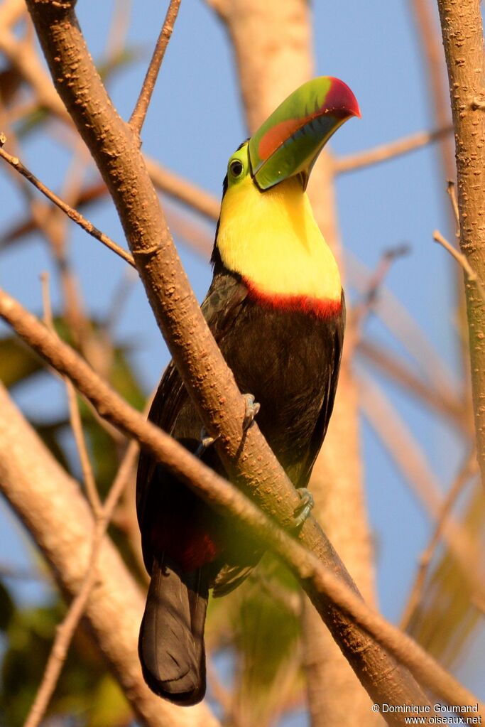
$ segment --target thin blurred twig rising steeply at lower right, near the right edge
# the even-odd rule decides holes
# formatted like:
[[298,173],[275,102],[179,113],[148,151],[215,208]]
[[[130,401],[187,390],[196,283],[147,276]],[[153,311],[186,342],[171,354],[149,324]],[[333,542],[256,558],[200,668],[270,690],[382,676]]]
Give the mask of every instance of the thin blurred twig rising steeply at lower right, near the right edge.
[[441,537],[443,535],[444,526],[449,516],[449,513],[451,512],[453,505],[455,505],[457,497],[460,495],[462,489],[470,480],[470,476],[477,470],[478,465],[476,462],[475,449],[473,448],[472,451],[470,451],[470,454],[468,454],[468,457],[466,457],[462,467],[460,467],[460,471],[457,473],[455,481],[454,483],[452,483],[452,486],[449,489],[443,505],[441,505],[441,513],[439,513],[439,516],[436,519],[433,534],[431,535],[427,547],[420,555],[419,569],[417,570],[415,582],[412,585],[411,593],[409,595],[406,608],[404,608],[401,622],[399,624],[399,627],[403,631],[407,630],[407,627],[409,626],[409,622],[412,619],[413,614],[415,613],[417,605],[421,601],[423,588],[426,578],[428,576],[428,570],[431,566],[431,561],[433,559],[436,547],[438,547],[439,541],[441,540]]

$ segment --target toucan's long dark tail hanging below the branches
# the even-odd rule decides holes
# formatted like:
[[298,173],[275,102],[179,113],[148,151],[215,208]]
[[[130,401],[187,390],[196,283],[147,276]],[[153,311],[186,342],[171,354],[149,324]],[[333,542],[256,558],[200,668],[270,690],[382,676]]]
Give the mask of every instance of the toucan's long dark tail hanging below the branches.
[[138,651],[150,689],[174,704],[197,704],[205,694],[207,601],[201,569],[187,574],[165,556],[153,559]]

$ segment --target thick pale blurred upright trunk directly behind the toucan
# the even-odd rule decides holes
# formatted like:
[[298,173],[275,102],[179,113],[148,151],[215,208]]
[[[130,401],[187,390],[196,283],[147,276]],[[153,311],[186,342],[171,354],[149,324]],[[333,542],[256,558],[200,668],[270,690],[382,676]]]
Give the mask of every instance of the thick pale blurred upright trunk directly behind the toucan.
[[[314,76],[309,3],[306,0],[285,3],[221,0],[212,5],[227,25],[235,49],[243,105],[252,133],[290,92]],[[311,172],[309,196],[319,227],[342,270],[332,160],[327,151]],[[374,603],[357,398],[349,364],[344,357],[335,409],[314,467],[311,492],[315,498],[314,515],[324,526],[364,599]],[[367,694],[308,601],[303,632],[312,726],[350,727],[375,722]]]

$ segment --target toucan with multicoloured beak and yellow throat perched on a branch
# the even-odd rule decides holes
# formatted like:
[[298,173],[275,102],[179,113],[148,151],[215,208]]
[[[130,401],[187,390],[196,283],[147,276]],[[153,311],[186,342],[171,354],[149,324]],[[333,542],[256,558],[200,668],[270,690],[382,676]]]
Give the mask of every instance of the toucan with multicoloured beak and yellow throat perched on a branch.
[[[321,76],[294,91],[229,158],[203,314],[288,477],[305,489],[332,414],[345,302],[338,265],[306,195],[314,162],[341,124],[360,116],[351,89]],[[256,400],[256,401],[253,401]],[[225,475],[172,361],[149,418]],[[205,442],[205,438],[203,438]],[[148,686],[175,704],[205,694],[208,591],[224,595],[261,558],[150,454],[136,508],[150,574],[139,635]]]

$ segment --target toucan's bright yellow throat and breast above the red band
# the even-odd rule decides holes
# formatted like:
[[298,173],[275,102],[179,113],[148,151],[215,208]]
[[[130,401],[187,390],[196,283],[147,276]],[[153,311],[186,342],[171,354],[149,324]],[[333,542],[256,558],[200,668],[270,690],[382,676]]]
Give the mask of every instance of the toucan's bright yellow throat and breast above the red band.
[[229,186],[217,246],[224,265],[269,295],[341,300],[341,278],[301,182],[260,192],[248,174]]

